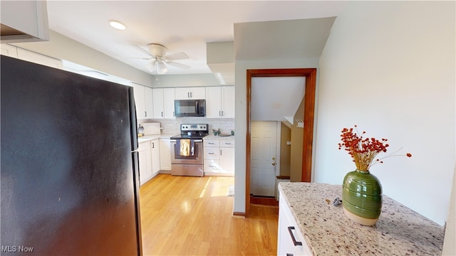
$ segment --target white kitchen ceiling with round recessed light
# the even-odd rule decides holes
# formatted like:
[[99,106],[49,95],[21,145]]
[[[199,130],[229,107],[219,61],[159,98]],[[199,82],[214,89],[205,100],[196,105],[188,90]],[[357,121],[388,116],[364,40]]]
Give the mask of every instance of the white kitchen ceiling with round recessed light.
[[[333,17],[341,12],[346,3],[48,0],[47,5],[49,28],[53,31],[145,72],[147,60],[138,58],[147,56],[129,44],[147,49],[148,43],[160,43],[168,48],[169,53],[182,51],[190,57],[189,60],[178,61],[190,65],[189,70],[170,67],[167,74],[195,74],[212,73],[206,63],[206,43],[234,41],[235,23]],[[108,24],[111,19],[123,22],[127,28],[124,31],[111,28]],[[271,23],[264,24],[270,26]],[[303,33],[309,38],[312,37],[312,33],[318,33],[313,29],[309,29],[307,33],[290,32]],[[326,39],[321,48],[325,42]],[[309,57],[315,55],[315,50],[309,49],[306,54],[309,54]],[[252,52],[249,54],[252,55]],[[255,54],[265,55],[268,52]],[[274,55],[281,53],[275,50]]]

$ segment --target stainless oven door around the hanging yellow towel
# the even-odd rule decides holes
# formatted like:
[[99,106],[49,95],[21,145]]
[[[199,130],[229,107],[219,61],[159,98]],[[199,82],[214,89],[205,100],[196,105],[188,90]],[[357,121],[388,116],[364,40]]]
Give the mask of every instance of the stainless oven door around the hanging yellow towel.
[[[171,164],[203,164],[202,139],[191,140],[194,149],[190,156],[180,154],[180,143],[178,139],[171,139]],[[192,151],[192,150],[190,150]]]

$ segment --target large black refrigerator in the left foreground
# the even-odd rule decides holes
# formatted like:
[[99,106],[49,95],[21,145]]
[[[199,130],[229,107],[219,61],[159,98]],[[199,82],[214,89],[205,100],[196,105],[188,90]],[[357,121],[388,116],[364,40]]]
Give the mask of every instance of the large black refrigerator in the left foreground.
[[1,255],[142,255],[133,88],[0,70]]

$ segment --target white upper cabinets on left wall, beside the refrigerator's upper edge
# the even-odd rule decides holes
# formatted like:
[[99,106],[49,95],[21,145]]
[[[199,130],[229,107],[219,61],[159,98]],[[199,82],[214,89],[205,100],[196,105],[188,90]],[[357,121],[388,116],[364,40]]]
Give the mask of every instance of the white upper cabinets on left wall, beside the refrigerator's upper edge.
[[132,82],[138,119],[152,118],[152,88]]

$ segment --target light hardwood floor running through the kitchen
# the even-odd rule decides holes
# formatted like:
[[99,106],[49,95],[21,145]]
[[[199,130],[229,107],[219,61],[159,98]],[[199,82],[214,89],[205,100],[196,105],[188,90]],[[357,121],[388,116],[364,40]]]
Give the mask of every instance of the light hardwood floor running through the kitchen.
[[140,188],[143,255],[277,255],[276,206],[232,216],[233,177],[159,174]]

